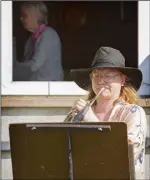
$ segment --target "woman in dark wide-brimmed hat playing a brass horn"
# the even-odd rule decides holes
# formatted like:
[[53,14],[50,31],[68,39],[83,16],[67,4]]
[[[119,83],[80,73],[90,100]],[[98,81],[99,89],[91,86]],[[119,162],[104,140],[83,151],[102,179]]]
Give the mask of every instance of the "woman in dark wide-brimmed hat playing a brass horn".
[[[120,51],[101,47],[90,68],[74,69],[71,75],[79,87],[89,90],[88,101],[104,88],[83,121],[125,122],[128,140],[134,145],[136,178],[143,179],[146,115],[143,108],[137,105],[136,94],[142,81],[141,71],[125,67],[125,59]],[[72,109],[80,111],[85,105],[86,102],[79,99]]]

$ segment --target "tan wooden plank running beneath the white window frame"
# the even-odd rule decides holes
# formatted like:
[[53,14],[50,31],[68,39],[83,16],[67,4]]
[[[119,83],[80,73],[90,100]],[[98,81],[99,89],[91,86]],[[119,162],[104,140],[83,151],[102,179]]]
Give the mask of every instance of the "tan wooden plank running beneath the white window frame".
[[[71,107],[86,96],[2,96],[2,107]],[[140,106],[150,107],[150,98],[140,99]]]

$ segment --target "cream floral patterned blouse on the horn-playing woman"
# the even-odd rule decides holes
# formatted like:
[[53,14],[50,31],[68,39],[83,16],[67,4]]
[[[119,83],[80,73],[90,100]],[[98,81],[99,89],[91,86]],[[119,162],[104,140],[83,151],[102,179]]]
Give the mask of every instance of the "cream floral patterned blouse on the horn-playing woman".
[[125,122],[128,139],[134,147],[135,178],[145,179],[146,114],[142,107],[118,101],[108,119],[109,122]]

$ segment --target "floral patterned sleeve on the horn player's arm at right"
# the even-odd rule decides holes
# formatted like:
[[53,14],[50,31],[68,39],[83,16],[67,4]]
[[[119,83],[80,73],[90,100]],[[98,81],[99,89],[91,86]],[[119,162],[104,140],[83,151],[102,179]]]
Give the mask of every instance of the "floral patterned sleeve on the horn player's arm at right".
[[126,116],[128,139],[134,148],[134,164],[137,179],[144,174],[144,154],[146,138],[146,114],[143,108],[131,105]]

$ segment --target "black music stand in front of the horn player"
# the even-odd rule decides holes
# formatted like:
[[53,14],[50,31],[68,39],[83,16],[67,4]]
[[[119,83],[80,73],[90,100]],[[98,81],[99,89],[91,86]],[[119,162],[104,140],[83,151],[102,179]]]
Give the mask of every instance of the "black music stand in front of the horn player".
[[124,123],[10,124],[14,180],[130,179]]

